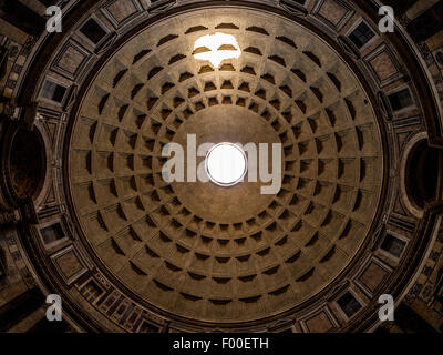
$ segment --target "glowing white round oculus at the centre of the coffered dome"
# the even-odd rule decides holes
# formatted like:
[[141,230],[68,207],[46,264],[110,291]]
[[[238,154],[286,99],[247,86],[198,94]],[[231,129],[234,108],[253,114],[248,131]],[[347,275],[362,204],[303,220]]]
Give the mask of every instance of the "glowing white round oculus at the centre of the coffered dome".
[[245,176],[246,162],[246,154],[241,148],[233,143],[219,143],[206,155],[206,172],[217,185],[233,186]]

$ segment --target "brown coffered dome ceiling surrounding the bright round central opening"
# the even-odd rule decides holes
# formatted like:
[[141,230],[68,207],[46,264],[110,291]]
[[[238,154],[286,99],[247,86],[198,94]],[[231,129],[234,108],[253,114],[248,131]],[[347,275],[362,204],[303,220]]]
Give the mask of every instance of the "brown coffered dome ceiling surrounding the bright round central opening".
[[[219,68],[194,58],[214,32],[241,55]],[[162,148],[187,134],[281,143],[281,189],[168,184]],[[147,305],[204,322],[276,315],[331,283],[363,244],[383,180],[375,114],[348,64],[255,10],[194,11],[134,36],[91,82],[70,144],[74,210],[100,262]]]

